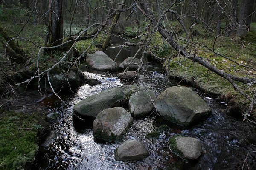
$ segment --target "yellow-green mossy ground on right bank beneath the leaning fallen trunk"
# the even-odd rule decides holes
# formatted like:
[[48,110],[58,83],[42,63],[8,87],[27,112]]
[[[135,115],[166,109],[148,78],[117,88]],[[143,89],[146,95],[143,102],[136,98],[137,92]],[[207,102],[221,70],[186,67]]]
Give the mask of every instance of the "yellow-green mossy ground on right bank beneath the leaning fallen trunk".
[[[201,39],[199,37],[198,41],[203,42],[208,46],[212,45],[212,39],[210,38]],[[256,60],[255,57],[252,57],[256,54],[256,51],[254,50],[256,48],[255,43],[250,43],[246,46],[237,45],[238,43],[244,42],[237,42],[230,38],[223,37],[220,40],[217,40],[215,51],[236,60],[238,63],[255,68]],[[238,77],[254,78],[253,75],[255,74],[255,71],[248,71],[228,59],[218,56],[210,51],[204,51],[206,50],[205,48],[201,47],[200,50],[201,51],[197,52],[198,56],[206,58],[209,63],[218,69]],[[180,62],[183,66],[180,66],[177,62]],[[198,63],[194,63],[183,57],[173,57],[172,61],[166,62],[164,66],[169,70],[170,77],[178,78],[190,83],[192,86],[200,88],[206,94],[220,96],[229,106],[231,103],[232,105],[239,105],[242,110],[246,105],[249,105],[249,101],[235,91],[230,82]],[[241,85],[241,83],[238,82],[238,85]],[[253,93],[251,92],[253,92],[253,89],[255,89],[255,85],[245,90],[247,91],[247,94],[252,96]],[[232,96],[232,98],[230,98],[230,96]]]

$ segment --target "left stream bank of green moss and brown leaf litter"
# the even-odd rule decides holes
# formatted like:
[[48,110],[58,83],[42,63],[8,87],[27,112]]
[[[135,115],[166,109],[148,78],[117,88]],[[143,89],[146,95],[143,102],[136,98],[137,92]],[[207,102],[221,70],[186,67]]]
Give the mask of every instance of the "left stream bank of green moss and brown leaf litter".
[[[23,87],[25,88],[25,87]],[[42,95],[18,89],[0,99],[0,169],[30,169],[38,153],[38,143],[49,132],[48,109],[38,104]]]

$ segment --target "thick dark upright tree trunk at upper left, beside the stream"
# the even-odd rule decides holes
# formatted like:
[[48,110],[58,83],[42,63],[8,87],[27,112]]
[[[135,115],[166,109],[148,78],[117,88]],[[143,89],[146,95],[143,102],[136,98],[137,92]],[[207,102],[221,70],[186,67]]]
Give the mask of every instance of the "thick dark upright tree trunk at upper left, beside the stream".
[[60,45],[63,39],[62,0],[54,0],[52,10],[49,23],[49,44],[56,46]]

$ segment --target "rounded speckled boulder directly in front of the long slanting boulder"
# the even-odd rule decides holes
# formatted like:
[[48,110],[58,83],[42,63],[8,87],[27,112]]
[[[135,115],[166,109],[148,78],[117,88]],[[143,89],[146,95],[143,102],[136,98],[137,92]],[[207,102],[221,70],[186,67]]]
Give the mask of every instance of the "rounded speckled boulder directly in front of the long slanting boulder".
[[124,136],[132,123],[130,112],[124,108],[105,109],[93,121],[93,136],[96,139],[112,142]]

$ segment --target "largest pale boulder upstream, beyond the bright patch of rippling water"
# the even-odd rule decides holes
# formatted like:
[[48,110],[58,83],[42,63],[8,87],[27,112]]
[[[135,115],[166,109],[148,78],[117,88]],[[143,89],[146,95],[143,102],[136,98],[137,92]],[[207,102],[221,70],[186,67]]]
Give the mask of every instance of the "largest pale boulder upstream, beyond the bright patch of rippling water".
[[93,69],[99,71],[113,71],[117,70],[117,64],[107,54],[102,51],[96,51],[93,54],[87,54],[86,63]]

